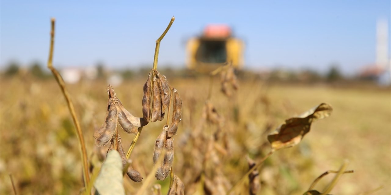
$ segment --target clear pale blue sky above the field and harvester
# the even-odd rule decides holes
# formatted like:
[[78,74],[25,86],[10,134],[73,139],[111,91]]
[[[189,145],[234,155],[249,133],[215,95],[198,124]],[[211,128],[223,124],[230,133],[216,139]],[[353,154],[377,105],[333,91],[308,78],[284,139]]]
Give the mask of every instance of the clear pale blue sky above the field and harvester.
[[[55,17],[55,66],[185,64],[185,43],[209,23],[225,23],[246,43],[246,66],[276,65],[345,73],[375,62],[376,21],[391,32],[391,1],[0,1],[0,66],[46,63],[50,18]],[[389,41],[390,35],[389,35]],[[390,45],[390,43],[389,43]]]

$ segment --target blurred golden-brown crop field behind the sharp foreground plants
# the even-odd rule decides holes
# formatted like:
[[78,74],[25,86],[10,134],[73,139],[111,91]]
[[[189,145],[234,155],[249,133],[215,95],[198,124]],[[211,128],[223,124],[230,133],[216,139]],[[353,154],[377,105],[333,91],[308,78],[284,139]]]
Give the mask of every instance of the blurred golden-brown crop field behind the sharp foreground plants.
[[[161,72],[161,74],[165,74]],[[142,116],[142,79],[115,86],[122,105]],[[303,194],[326,170],[346,170],[330,194],[356,195],[383,186],[373,194],[389,194],[391,188],[391,91],[377,87],[335,88],[328,85],[283,85],[259,80],[239,80],[239,89],[224,96],[219,78],[167,78],[178,90],[182,119],[174,137],[172,170],[185,185],[186,194],[221,193],[249,170],[247,158],[258,162],[270,150],[267,135],[280,124],[308,109],[328,103],[330,117],[314,122],[296,146],[274,152],[258,169],[256,194]],[[12,194],[9,174],[20,194],[77,194],[83,188],[79,145],[65,99],[54,78],[0,80],[0,193]],[[100,167],[110,144],[98,148],[94,131],[104,122],[108,83],[84,80],[67,85],[81,123],[90,169]],[[212,86],[212,90],[210,90]],[[203,120],[205,102],[214,106],[224,124]],[[131,166],[145,179],[151,172],[155,140],[165,120],[148,124],[130,156]],[[120,128],[119,128],[120,129]],[[197,131],[194,135],[192,132]],[[219,133],[216,133],[219,132]],[[134,134],[119,131],[125,152]],[[218,137],[218,138],[216,138]],[[92,171],[93,172],[93,171]],[[316,184],[322,191],[335,174]],[[124,176],[127,194],[142,186]],[[170,176],[153,184],[167,193]],[[248,179],[235,193],[249,194]],[[218,189],[213,189],[218,188]]]

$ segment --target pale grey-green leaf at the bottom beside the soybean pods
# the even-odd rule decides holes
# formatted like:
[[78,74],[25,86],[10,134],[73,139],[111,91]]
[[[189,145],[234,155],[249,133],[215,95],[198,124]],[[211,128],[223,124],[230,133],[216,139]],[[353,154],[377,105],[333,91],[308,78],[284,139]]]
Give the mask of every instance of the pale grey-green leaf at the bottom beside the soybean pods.
[[116,150],[107,154],[94,186],[99,195],[125,195],[122,158]]

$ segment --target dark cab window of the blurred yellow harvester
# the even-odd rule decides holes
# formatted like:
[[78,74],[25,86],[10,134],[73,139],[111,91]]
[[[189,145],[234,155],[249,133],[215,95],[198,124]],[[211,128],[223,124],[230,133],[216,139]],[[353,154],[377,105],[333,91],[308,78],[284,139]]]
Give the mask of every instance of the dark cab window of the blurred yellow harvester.
[[203,63],[224,63],[227,61],[226,41],[201,40],[195,58]]

